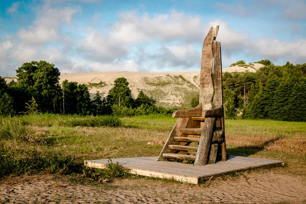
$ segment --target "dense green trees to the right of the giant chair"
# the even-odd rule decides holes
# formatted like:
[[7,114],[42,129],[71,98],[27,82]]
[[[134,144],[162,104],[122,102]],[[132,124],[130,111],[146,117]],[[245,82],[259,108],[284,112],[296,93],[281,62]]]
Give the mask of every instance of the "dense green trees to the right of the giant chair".
[[276,66],[269,60],[256,72],[223,73],[228,118],[306,121],[306,63]]

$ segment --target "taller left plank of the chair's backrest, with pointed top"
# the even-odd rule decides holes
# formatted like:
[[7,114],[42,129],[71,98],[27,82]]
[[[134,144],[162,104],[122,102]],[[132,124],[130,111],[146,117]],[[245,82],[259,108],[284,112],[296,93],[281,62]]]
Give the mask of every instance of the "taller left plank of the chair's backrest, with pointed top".
[[205,111],[213,109],[212,100],[214,87],[212,80],[213,71],[213,41],[216,39],[219,31],[219,25],[211,27],[207,34],[202,48],[201,71],[200,71],[200,96],[199,103],[202,104],[202,116],[205,117]]

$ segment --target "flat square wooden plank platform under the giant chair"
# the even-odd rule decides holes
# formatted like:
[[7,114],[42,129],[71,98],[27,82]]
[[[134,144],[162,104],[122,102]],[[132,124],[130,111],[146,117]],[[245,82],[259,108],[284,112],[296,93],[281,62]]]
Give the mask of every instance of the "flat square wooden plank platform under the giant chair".
[[[220,161],[205,166],[193,166],[192,164],[179,162],[157,161],[157,159],[158,157],[119,158],[112,159],[112,162],[118,162],[121,166],[131,169],[130,172],[132,174],[174,179],[190,184],[198,184],[199,180],[207,180],[214,175],[284,163],[284,161],[277,160],[231,156],[225,162]],[[87,160],[84,161],[84,165],[93,168],[104,168],[108,161],[108,159]]]

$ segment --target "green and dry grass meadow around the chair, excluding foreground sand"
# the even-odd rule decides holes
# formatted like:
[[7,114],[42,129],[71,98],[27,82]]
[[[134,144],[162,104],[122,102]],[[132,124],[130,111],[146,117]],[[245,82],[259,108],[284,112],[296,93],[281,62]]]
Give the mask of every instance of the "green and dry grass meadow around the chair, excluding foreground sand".
[[[93,179],[97,173],[99,180],[108,176],[83,169],[84,160],[157,156],[176,121],[162,115],[138,116],[121,118],[114,127],[100,125],[100,119],[52,114],[0,118],[0,156],[6,161],[0,164],[5,171],[1,174],[42,171]],[[229,154],[284,160],[287,166],[278,172],[306,175],[306,123],[225,120],[225,125]],[[112,171],[127,175],[118,166]]]

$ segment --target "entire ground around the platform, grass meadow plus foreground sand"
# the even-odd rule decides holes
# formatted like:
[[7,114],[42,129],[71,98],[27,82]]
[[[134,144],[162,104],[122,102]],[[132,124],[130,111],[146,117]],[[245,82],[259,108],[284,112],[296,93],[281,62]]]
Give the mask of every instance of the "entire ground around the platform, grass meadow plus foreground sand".
[[306,123],[225,120],[229,154],[284,160],[286,165],[188,185],[122,173],[116,165],[110,168],[118,171],[113,177],[82,167],[83,160],[159,155],[176,118],[121,118],[117,127],[73,123],[80,120],[92,117],[0,119],[1,203],[306,202]]

